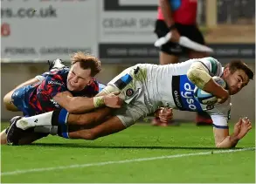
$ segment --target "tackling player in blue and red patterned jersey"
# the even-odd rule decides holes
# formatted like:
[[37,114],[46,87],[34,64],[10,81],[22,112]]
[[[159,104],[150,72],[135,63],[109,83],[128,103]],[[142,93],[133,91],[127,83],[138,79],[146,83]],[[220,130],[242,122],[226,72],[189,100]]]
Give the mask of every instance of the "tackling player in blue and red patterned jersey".
[[[67,112],[82,113],[93,110],[99,106],[98,97],[93,98],[105,85],[100,84],[95,78],[100,72],[100,60],[82,52],[77,52],[71,58],[71,68],[64,67],[60,59],[55,60],[57,70],[51,70],[32,78],[5,95],[3,103],[7,110],[21,111],[24,116],[33,116],[56,109],[65,108]],[[53,66],[53,67],[54,67]],[[86,97],[86,98],[85,98]],[[101,97],[100,106],[118,108],[121,101],[113,94]],[[82,106],[77,106],[82,101]],[[109,112],[107,108],[102,112]],[[14,118],[15,119],[15,118]],[[47,120],[47,119],[45,119]],[[38,127],[39,129],[42,127]],[[66,129],[66,127],[64,127]],[[56,132],[58,130],[52,130]],[[61,131],[61,128],[60,130]],[[1,144],[5,144],[7,130],[1,133]],[[28,137],[25,144],[38,140],[48,133],[38,133],[37,128],[27,131]],[[22,143],[21,143],[22,144]]]

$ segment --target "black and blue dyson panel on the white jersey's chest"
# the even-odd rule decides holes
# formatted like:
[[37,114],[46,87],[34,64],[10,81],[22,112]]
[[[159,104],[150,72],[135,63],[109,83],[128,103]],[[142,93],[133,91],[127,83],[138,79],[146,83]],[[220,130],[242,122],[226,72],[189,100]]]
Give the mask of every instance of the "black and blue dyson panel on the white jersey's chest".
[[194,88],[186,75],[172,77],[172,95],[176,107],[182,111],[202,111],[194,98]]

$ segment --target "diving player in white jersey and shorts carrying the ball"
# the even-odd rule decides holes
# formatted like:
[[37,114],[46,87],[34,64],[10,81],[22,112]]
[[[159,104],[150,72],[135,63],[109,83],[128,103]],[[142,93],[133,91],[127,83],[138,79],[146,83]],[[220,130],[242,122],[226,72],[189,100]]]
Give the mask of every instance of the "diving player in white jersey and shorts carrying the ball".
[[[212,79],[213,76],[223,78],[228,86],[227,90],[218,85]],[[238,93],[250,79],[253,79],[253,72],[239,60],[230,62],[225,68],[215,58],[190,59],[174,65],[135,65],[111,80],[101,95],[116,91],[115,86],[120,85],[127,78],[132,80],[120,93],[120,98],[125,104],[120,109],[113,110],[110,117],[100,117],[97,111],[92,114],[70,114],[65,109],[47,112],[14,122],[15,126],[10,128],[8,141],[11,143],[18,138],[18,131],[26,130],[31,126],[63,124],[91,126],[88,129],[67,131],[68,138],[95,140],[132,126],[136,120],[156,112],[160,106],[181,111],[208,112],[213,121],[216,147],[235,147],[239,140],[252,129],[250,120],[244,118],[239,119],[234,126],[234,132],[229,133],[230,95]],[[216,96],[218,104],[215,106],[199,104],[193,95],[195,85]],[[104,102],[99,97],[95,103]]]

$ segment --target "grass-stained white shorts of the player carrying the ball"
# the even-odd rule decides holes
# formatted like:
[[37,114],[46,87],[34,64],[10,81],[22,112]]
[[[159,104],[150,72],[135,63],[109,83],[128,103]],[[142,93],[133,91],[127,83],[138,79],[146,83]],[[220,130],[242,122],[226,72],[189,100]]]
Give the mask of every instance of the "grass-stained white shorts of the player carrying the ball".
[[156,107],[152,106],[149,100],[147,89],[147,69],[141,65],[131,66],[121,72],[107,85],[114,83],[126,74],[129,74],[133,79],[121,91],[120,97],[124,99],[124,105],[120,109],[114,110],[114,115],[121,119],[124,126],[132,126],[135,121],[146,117],[147,114],[155,112]]

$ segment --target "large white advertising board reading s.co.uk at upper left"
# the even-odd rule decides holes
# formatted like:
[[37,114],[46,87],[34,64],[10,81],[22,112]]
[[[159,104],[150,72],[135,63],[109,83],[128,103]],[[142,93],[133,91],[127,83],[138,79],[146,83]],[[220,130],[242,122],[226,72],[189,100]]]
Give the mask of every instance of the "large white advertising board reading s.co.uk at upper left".
[[1,60],[70,58],[75,51],[98,55],[95,0],[2,0]]

